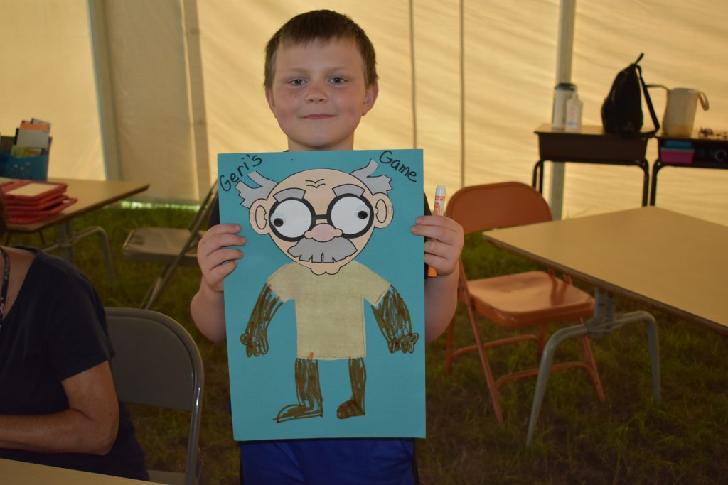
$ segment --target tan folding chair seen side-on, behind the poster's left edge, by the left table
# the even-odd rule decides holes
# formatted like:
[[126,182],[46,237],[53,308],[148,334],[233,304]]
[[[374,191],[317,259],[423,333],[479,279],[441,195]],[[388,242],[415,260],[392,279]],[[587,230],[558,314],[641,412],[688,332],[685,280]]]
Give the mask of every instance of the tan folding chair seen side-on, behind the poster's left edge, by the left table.
[[187,229],[137,228],[129,233],[122,246],[124,259],[138,262],[156,262],[164,265],[141,302],[141,308],[151,308],[159,294],[172,278],[179,265],[197,265],[197,241],[210,218],[210,211],[218,199],[218,185],[213,184],[199,206]]

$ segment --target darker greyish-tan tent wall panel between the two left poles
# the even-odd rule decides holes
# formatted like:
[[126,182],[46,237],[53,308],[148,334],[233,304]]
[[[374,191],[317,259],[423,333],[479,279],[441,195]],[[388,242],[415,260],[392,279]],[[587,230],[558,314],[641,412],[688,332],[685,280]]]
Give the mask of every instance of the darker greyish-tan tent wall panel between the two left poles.
[[[183,9],[178,0],[92,0],[106,36],[102,64],[124,180],[149,180],[155,199],[197,198]],[[102,23],[102,25],[98,25]],[[102,110],[105,108],[102,105]],[[111,130],[109,130],[111,131]],[[207,191],[207,187],[204,188]],[[204,193],[204,192],[203,192]]]

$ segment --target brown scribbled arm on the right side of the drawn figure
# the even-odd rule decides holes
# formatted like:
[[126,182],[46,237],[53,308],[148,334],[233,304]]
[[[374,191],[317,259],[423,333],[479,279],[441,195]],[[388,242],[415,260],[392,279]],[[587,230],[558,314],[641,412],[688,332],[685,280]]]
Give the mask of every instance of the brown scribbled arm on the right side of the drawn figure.
[[395,353],[397,350],[401,350],[402,353],[414,352],[419,334],[412,332],[409,309],[395,287],[390,285],[379,305],[376,307],[372,305],[371,309],[381,334],[387,339],[389,352]]

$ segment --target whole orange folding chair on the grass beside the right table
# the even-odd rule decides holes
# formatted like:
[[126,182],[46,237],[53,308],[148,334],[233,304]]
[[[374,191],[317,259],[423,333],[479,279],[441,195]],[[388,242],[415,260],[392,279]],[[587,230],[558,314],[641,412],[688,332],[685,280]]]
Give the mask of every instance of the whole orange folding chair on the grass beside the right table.
[[[451,197],[445,213],[462,225],[465,234],[514,225],[542,223],[552,219],[548,204],[541,194],[529,185],[518,182],[464,187]],[[539,369],[506,374],[494,380],[486,350],[532,340],[538,346],[540,357],[549,324],[590,318],[594,313],[593,298],[573,286],[568,276],[561,279],[555,276],[553,271],[527,271],[468,280],[462,259],[458,298],[467,307],[475,345],[453,349],[454,321],[451,321],[448,327],[446,372],[450,372],[456,358],[477,350],[483,373],[486,374],[493,409],[500,424],[503,423],[503,412],[498,399],[500,386],[510,380],[537,375]],[[539,327],[540,331],[539,334],[522,334],[485,341],[480,334],[478,314],[500,326]],[[582,337],[582,346],[585,361],[555,364],[551,370],[574,367],[585,369],[593,380],[599,400],[604,401],[604,390],[601,387],[588,337]]]

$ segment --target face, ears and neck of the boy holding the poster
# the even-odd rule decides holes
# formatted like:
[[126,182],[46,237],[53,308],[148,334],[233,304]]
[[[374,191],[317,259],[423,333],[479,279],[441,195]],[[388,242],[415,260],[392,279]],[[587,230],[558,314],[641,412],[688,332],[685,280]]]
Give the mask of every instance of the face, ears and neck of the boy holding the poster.
[[352,150],[354,131],[379,87],[365,85],[362,57],[351,39],[281,45],[268,105],[288,136],[288,150]]

